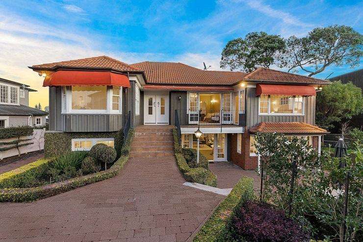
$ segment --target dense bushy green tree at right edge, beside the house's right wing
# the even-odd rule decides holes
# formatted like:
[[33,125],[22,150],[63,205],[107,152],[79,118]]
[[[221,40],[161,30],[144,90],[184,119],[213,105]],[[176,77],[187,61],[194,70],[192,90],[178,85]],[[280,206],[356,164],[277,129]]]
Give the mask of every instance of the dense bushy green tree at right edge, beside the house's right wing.
[[334,81],[326,85],[316,96],[316,124],[319,127],[333,128],[334,122],[351,118],[363,112],[361,88],[352,82],[342,84]]

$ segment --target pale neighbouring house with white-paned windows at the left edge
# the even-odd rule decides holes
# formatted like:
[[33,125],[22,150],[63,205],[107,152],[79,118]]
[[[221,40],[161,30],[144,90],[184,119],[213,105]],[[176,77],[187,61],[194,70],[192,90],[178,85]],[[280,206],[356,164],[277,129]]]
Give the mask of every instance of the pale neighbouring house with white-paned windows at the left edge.
[[43,126],[48,112],[29,107],[29,85],[0,78],[0,129],[12,126]]

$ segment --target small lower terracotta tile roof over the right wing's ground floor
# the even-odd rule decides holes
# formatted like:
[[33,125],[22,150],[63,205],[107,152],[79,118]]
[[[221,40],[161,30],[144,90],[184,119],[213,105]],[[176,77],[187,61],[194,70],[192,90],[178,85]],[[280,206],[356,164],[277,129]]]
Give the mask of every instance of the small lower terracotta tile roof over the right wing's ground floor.
[[328,134],[326,130],[307,123],[300,122],[261,122],[250,128],[255,133],[283,133],[283,134]]

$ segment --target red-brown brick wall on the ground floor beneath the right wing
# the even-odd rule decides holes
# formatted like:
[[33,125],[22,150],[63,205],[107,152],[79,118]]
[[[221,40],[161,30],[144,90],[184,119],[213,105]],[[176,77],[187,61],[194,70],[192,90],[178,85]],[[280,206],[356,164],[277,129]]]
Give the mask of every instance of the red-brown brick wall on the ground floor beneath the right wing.
[[231,161],[240,166],[244,170],[254,170],[257,168],[257,157],[250,157],[250,134],[248,132],[242,134],[242,150],[241,154],[237,152],[237,134],[231,137]]

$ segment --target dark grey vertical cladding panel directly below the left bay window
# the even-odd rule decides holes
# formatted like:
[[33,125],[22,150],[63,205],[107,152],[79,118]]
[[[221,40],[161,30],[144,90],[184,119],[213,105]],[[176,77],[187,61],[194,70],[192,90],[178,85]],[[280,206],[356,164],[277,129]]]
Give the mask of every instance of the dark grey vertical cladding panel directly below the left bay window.
[[122,114],[62,114],[64,132],[113,132],[123,128]]

